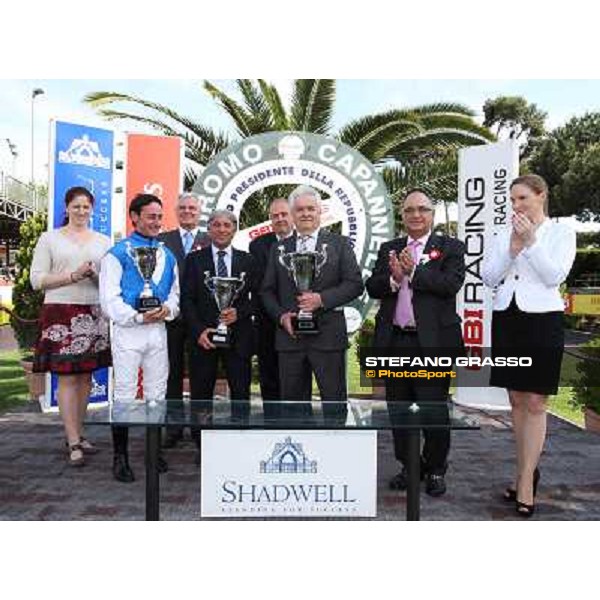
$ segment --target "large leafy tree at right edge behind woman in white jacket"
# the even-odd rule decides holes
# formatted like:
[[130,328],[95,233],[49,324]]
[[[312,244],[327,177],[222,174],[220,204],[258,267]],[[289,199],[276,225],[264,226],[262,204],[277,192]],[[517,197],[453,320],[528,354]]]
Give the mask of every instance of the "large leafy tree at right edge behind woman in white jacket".
[[600,113],[574,117],[542,140],[527,169],[550,188],[550,215],[600,221]]

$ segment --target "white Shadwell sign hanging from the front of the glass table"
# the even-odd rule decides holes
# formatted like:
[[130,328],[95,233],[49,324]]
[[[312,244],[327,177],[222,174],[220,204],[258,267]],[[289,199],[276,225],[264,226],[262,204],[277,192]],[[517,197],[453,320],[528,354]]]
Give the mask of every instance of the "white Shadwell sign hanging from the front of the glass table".
[[203,517],[374,517],[376,431],[203,431]]

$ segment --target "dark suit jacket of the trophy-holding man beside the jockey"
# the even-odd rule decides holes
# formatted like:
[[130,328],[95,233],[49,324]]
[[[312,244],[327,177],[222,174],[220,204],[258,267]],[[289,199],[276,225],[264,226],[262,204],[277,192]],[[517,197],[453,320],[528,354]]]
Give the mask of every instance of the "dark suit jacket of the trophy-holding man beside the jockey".
[[[213,295],[204,284],[206,271],[210,272],[211,277],[215,275],[211,246],[197,252],[190,252],[185,259],[181,309],[194,342],[207,327],[216,327],[219,322],[219,309]],[[239,277],[241,273],[246,273],[246,284],[233,303],[238,318],[230,326],[231,341],[235,351],[243,356],[251,356],[253,351],[251,295],[256,295],[254,259],[247,252],[234,248],[231,277]]]

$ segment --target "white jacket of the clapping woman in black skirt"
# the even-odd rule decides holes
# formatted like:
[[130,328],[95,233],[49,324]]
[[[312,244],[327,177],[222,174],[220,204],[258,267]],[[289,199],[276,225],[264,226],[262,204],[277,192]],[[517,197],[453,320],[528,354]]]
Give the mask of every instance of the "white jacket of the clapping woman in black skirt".
[[513,295],[525,312],[564,310],[559,286],[575,260],[575,231],[545,219],[535,233],[535,242],[515,258],[510,256],[511,233],[512,227],[498,232],[483,259],[481,278],[495,288],[494,310],[508,308]]

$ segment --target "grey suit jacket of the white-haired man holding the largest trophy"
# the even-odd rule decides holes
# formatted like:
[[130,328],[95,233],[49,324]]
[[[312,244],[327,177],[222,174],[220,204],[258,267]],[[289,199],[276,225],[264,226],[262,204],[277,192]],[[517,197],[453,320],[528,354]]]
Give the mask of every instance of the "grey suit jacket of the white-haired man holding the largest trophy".
[[[299,350],[343,350],[348,346],[346,320],[341,310],[345,304],[360,296],[364,285],[356,256],[349,241],[336,233],[321,230],[317,250],[326,247],[327,262],[315,279],[311,291],[321,294],[323,307],[316,311],[320,332],[316,335],[292,338],[281,327],[277,330],[276,346],[280,352]],[[271,247],[267,271],[261,288],[261,298],[267,313],[279,324],[286,312],[297,312],[296,285],[288,270],[279,262],[279,247],[296,251],[296,234]],[[337,308],[340,310],[336,310]]]

